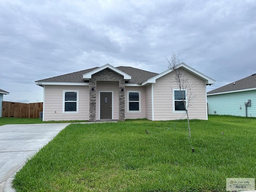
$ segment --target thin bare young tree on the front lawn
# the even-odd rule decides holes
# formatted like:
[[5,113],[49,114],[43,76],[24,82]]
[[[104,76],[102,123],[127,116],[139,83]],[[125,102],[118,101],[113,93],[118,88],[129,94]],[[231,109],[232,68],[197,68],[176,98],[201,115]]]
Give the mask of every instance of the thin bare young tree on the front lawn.
[[[182,102],[184,105],[184,111],[186,113],[186,117],[188,120],[188,132],[189,132],[189,138],[190,138],[190,145],[192,145],[190,122],[189,122],[189,116],[188,116],[188,107],[190,106],[190,102],[192,98],[195,97],[195,95],[192,93],[192,90],[191,90],[195,85],[189,83],[186,70],[184,70],[183,68],[180,68],[180,59],[178,54],[175,54],[174,52],[172,52],[170,59],[166,57],[165,59],[167,61],[167,67],[169,69],[172,69],[174,73],[173,82],[177,84],[179,88],[179,96],[182,97],[180,102]],[[181,104],[180,102],[177,102],[177,104]],[[192,148],[192,151],[194,152],[194,148]]]

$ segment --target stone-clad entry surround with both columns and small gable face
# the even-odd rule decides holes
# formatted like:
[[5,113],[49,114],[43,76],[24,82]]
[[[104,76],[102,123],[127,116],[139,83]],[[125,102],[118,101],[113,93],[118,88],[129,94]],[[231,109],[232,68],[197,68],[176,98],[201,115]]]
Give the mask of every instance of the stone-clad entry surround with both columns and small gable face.
[[[89,82],[89,89],[90,89],[90,117],[89,120],[91,122],[96,121],[96,86],[98,81],[118,81],[119,82],[119,120],[125,120],[125,113],[124,113],[124,76],[117,74],[116,72],[106,68],[96,74],[92,75],[92,78]],[[94,90],[92,91],[92,88]]]

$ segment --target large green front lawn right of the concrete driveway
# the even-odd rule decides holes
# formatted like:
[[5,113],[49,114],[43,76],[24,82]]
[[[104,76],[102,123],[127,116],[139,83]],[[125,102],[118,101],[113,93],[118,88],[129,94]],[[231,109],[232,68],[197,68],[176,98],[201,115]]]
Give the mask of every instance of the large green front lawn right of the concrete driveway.
[[226,178],[256,175],[255,125],[233,116],[191,120],[192,153],[185,120],[70,124],[26,162],[14,188],[224,192]]

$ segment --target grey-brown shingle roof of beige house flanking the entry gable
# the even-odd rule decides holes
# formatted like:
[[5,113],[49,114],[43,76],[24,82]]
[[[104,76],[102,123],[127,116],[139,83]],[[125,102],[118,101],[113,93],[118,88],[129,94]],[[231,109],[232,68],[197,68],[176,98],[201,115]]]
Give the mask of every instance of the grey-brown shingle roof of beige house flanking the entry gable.
[[[55,76],[51,78],[46,78],[46,79],[38,80],[36,82],[84,82],[82,75],[88,72],[91,72],[97,68],[98,67],[77,71],[73,73],[68,73],[60,76]],[[157,73],[144,71],[144,70],[133,68],[133,67],[119,66],[116,68],[132,76],[132,79],[129,81],[129,83],[141,84],[142,82],[148,80],[149,78],[152,78],[158,75]]]

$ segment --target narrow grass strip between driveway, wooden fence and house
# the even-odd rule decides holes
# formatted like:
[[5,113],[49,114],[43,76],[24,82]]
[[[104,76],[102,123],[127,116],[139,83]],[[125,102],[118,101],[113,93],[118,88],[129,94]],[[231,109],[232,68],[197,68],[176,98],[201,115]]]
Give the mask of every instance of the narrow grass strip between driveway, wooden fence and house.
[[38,123],[74,123],[86,121],[42,121],[39,118],[16,118],[16,117],[1,117],[0,126],[6,124],[38,124]]

